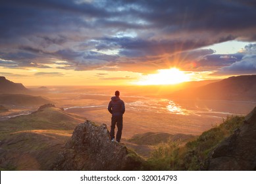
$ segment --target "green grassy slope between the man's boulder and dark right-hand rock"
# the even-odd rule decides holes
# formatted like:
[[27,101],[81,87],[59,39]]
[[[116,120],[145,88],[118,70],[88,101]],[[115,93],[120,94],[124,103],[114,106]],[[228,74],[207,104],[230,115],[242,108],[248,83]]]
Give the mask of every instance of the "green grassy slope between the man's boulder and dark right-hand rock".
[[211,151],[242,126],[243,120],[242,116],[227,117],[220,126],[205,131],[185,146],[175,141],[159,145],[147,160],[144,170],[206,170]]

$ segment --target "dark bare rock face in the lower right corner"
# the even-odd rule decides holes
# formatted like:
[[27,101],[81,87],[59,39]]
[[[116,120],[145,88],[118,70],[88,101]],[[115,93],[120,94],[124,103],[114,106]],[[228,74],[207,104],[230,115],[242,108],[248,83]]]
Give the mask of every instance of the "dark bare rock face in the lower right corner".
[[213,151],[208,170],[256,170],[256,107],[244,125]]

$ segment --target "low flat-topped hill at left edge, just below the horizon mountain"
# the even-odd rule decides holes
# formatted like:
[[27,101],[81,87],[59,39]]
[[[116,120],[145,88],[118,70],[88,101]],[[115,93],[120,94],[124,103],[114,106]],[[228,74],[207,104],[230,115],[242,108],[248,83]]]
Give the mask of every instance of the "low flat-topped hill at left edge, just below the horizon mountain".
[[40,106],[42,104],[53,103],[53,101],[41,96],[22,94],[0,94],[0,104],[18,106]]

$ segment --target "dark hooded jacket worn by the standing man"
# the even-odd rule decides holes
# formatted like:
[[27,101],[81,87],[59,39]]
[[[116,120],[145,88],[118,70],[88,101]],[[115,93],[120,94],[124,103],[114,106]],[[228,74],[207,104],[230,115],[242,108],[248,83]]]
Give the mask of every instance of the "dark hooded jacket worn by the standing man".
[[122,116],[125,111],[124,101],[119,97],[112,97],[107,108],[112,116]]

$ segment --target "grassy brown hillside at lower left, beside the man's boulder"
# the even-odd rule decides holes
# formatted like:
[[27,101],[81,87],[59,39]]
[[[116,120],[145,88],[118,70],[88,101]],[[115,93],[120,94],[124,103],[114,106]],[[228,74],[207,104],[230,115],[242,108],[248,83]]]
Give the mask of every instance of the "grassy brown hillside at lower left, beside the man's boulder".
[[49,170],[84,118],[45,108],[0,122],[0,170]]

